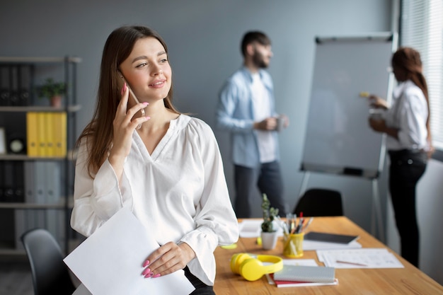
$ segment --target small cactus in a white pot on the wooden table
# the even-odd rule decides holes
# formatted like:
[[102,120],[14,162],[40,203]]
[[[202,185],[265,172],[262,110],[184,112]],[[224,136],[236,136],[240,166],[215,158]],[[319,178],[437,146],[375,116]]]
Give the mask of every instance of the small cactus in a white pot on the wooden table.
[[262,199],[262,210],[263,210],[263,222],[261,224],[262,232],[262,246],[263,249],[271,250],[275,248],[277,244],[278,233],[277,230],[274,229],[274,221],[275,217],[278,215],[278,209],[274,207],[270,207],[269,199],[267,199],[267,195],[263,194]]

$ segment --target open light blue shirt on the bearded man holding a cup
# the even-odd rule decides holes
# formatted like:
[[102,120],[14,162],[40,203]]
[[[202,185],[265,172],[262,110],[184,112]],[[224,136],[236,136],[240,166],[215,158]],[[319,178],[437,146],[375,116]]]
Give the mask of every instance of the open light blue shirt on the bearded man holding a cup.
[[[260,79],[269,91],[270,114],[277,116],[275,112],[274,86],[270,74],[260,70]],[[257,131],[253,129],[255,121],[253,98],[251,91],[251,72],[241,67],[232,74],[224,83],[219,93],[217,105],[217,127],[231,132],[231,157],[236,165],[254,168],[260,165],[260,153],[258,151]],[[275,141],[275,158],[280,159],[277,132],[272,132]]]

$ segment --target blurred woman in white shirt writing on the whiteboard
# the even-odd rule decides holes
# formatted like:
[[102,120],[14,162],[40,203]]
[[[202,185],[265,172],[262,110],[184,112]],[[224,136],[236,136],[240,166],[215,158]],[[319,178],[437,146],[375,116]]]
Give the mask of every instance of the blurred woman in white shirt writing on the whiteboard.
[[429,125],[427,83],[422,74],[420,53],[400,47],[391,65],[398,86],[393,91],[391,108],[386,100],[371,95],[374,108],[386,110],[381,118],[369,117],[376,132],[384,132],[389,167],[389,191],[401,240],[401,255],[418,267],[420,237],[415,205],[415,187],[425,173],[427,159],[434,150]]

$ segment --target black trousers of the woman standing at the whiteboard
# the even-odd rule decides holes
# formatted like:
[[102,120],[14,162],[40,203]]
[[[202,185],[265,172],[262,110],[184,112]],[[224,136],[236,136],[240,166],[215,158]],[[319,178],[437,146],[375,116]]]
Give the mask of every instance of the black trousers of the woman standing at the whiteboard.
[[400,235],[401,256],[418,267],[420,233],[417,221],[415,190],[425,173],[427,155],[423,151],[389,151],[389,191]]

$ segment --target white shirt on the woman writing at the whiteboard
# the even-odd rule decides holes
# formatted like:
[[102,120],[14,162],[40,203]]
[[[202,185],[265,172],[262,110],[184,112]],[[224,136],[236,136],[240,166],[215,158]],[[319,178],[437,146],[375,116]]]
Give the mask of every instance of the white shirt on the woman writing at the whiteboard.
[[398,84],[393,98],[393,105],[384,118],[387,126],[398,128],[398,140],[386,137],[387,149],[427,149],[425,95],[415,83],[408,80]]

